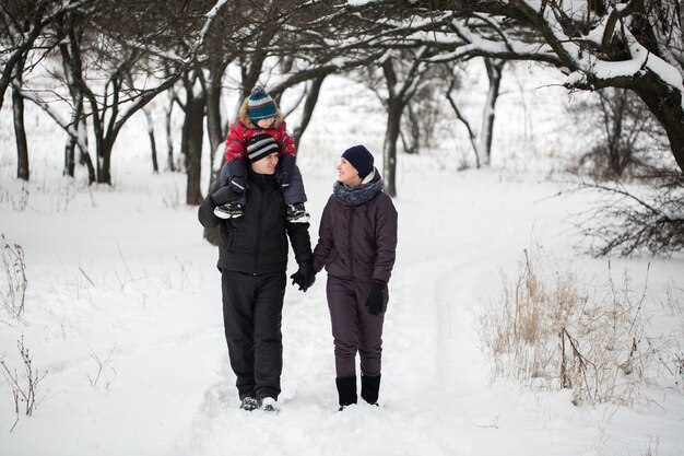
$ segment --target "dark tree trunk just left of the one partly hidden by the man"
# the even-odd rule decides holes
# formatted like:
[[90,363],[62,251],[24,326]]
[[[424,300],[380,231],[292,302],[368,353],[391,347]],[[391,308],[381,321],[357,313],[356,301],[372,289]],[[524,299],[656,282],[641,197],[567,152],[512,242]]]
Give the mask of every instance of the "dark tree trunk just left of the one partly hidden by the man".
[[188,176],[186,186],[186,203],[199,206],[202,203],[201,165],[202,165],[202,140],[204,137],[204,107],[207,97],[188,97],[186,103],[186,118],[182,127],[184,144],[186,145],[186,173]]

